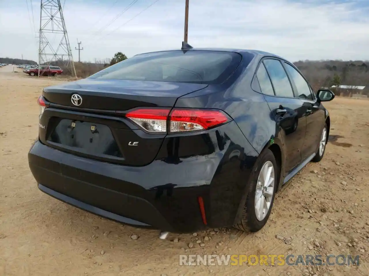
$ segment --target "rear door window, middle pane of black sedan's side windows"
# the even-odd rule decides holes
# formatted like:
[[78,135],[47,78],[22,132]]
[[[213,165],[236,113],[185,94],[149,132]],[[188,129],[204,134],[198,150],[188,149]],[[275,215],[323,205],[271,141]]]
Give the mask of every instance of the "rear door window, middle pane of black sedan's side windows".
[[272,80],[276,96],[294,98],[292,86],[280,61],[265,59],[263,63]]

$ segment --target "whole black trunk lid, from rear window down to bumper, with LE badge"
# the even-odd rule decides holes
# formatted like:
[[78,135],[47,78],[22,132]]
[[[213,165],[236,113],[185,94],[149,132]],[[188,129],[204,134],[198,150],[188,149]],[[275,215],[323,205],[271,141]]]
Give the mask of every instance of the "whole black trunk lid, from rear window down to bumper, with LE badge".
[[[206,84],[83,79],[45,88],[41,142],[86,158],[144,166],[166,134],[147,133],[124,115],[136,107],[173,107],[177,98]],[[72,95],[82,99],[73,104]],[[79,103],[79,102],[78,102]]]

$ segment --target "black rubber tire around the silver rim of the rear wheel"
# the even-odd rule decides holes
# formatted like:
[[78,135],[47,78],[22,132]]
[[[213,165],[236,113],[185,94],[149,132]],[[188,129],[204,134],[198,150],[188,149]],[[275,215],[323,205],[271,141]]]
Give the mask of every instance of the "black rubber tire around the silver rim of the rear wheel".
[[[275,171],[275,183],[274,183],[274,192],[272,196],[272,201],[270,204],[270,208],[268,210],[268,213],[266,214],[265,218],[263,220],[258,220],[256,218],[255,213],[255,192],[256,192],[256,183],[258,181],[259,173],[262,169],[263,164],[265,164],[267,161],[272,162],[274,171]],[[280,174],[280,167],[277,165],[276,159],[273,155],[273,152],[270,151],[270,149],[265,149],[259,156],[258,160],[256,161],[254,168],[252,170],[251,176],[250,176],[250,190],[248,192],[248,196],[246,198],[245,206],[242,213],[241,221],[234,225],[234,227],[241,231],[251,231],[251,232],[257,232],[260,229],[264,227],[266,222],[268,221],[270,211],[273,208],[273,202],[278,186],[278,180],[279,180],[279,174]]]

